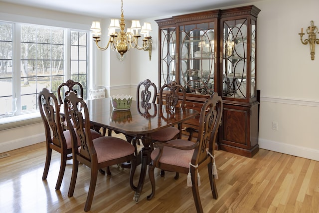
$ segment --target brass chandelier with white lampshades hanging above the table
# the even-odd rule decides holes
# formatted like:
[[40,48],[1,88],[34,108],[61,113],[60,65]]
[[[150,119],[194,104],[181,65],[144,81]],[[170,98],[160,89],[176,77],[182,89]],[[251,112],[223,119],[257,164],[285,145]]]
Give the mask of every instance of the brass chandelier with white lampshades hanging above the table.
[[[121,6],[121,19],[111,19],[111,23],[109,26],[109,33],[110,36],[109,41],[105,47],[99,46],[98,42],[101,40],[101,26],[99,21],[93,21],[91,30],[92,30],[92,37],[95,40],[97,47],[100,50],[106,50],[109,46],[114,51],[116,50],[120,54],[120,59],[123,60],[124,54],[130,50],[131,48],[137,48],[139,50],[149,51],[149,57],[151,60],[152,56],[152,36],[149,35],[149,32],[152,31],[151,23],[145,22],[144,25],[141,27],[139,20],[132,20],[131,28],[128,28],[125,32],[125,19],[123,15],[123,0]],[[120,29],[120,30],[118,30]],[[139,34],[139,30],[141,34],[144,34],[143,44],[139,46],[139,38],[141,35]]]

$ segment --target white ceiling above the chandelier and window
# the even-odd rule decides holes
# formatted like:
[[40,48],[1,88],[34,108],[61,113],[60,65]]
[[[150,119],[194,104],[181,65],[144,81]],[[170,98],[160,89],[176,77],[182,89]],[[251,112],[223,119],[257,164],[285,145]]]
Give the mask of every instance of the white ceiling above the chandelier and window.
[[[120,18],[121,0],[0,0],[87,16]],[[171,14],[189,13],[257,0],[123,0],[124,17],[144,19]]]

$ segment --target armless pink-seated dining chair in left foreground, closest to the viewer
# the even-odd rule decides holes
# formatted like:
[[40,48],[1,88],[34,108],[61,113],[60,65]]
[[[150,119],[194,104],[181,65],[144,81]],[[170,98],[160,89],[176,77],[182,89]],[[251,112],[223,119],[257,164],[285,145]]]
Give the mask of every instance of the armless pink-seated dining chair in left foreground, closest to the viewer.
[[[90,186],[85,202],[84,211],[91,209],[94,191],[97,182],[97,172],[99,169],[109,167],[123,162],[131,161],[130,185],[133,185],[133,174],[136,168],[135,148],[127,141],[109,136],[92,138],[89,111],[85,101],[78,97],[76,93],[70,92],[64,99],[64,111],[68,126],[75,124],[75,129],[71,128],[71,142],[73,154],[73,169],[68,197],[72,197],[75,189],[79,162],[91,168]],[[77,146],[76,134],[79,135],[81,145]]]

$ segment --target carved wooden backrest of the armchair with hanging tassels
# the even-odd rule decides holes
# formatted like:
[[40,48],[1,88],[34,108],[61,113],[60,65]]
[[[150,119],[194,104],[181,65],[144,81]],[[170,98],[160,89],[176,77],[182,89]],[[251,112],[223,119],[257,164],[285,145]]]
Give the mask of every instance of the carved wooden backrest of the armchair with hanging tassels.
[[222,98],[215,92],[205,101],[200,111],[197,138],[199,146],[194,150],[191,162],[193,165],[200,164],[207,158],[206,148],[213,155],[222,111]]

